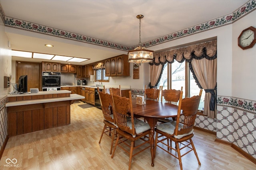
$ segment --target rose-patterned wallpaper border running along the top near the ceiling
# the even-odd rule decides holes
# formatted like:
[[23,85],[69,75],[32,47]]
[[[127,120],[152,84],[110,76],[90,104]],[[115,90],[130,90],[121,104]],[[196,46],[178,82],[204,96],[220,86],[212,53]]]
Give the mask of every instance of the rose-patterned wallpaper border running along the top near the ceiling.
[[[183,30],[165,35],[163,37],[159,37],[159,38],[147,41],[145,43],[142,43],[142,46],[143,47],[150,47],[150,46],[153,46],[153,45],[157,45],[157,44],[160,44],[160,43],[164,43],[164,42],[167,42],[167,41],[171,41],[171,40],[178,39],[178,38],[181,38],[181,37],[185,37],[185,36],[188,36],[188,35],[192,35],[192,34],[195,34],[195,33],[206,31],[208,29],[213,29],[213,28],[216,28],[216,27],[224,26],[224,25],[233,23],[234,21],[236,21],[236,20],[242,18],[243,16],[249,14],[253,10],[256,10],[256,0],[248,1],[246,4],[244,4],[243,6],[241,6],[240,8],[238,8],[236,11],[234,11],[231,14],[227,14],[225,16],[222,16],[222,17],[210,20],[210,21],[206,21],[204,23],[200,23],[198,25],[194,25],[192,27],[189,27],[189,28],[186,28],[186,29],[183,29]],[[101,45],[101,46],[104,46],[104,47],[110,47],[110,48],[124,50],[124,51],[129,51],[129,50],[132,50],[132,49],[136,48],[136,45],[133,46],[133,47],[128,47],[128,46],[113,43],[113,42],[110,42],[110,41],[105,41],[105,40],[89,37],[89,36],[86,36],[86,35],[81,35],[81,34],[78,34],[78,33],[72,33],[72,32],[69,32],[69,31],[64,31],[64,30],[61,30],[61,29],[48,27],[46,25],[40,25],[38,23],[32,23],[32,22],[29,22],[29,21],[23,21],[23,20],[20,20],[20,19],[11,18],[11,17],[8,17],[8,16],[4,15],[4,10],[2,9],[1,4],[0,4],[0,15],[1,15],[1,18],[4,20],[4,24],[6,26],[9,26],[9,27],[25,29],[27,31],[43,33],[43,34],[47,34],[47,35],[62,37],[62,38],[66,38],[66,39],[72,39],[72,40],[81,41],[81,42],[84,42],[84,43],[91,43],[91,44],[95,44],[95,45]]]

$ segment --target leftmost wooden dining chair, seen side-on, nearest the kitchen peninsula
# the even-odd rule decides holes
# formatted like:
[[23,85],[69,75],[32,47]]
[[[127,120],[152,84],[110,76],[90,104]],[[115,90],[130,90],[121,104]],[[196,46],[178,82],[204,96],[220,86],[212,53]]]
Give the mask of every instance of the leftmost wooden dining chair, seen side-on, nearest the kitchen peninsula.
[[[114,119],[114,115],[112,113],[112,106],[111,106],[111,96],[108,93],[100,92],[99,88],[98,89],[98,94],[100,97],[100,104],[101,104],[101,109],[103,113],[103,123],[104,127],[100,136],[100,141],[102,139],[103,134],[107,135],[108,137],[111,137],[112,135],[112,140],[111,140],[111,146],[110,146],[110,154],[112,154],[112,147],[114,143],[114,136],[116,135],[116,120]],[[99,144],[100,144],[99,141]]]

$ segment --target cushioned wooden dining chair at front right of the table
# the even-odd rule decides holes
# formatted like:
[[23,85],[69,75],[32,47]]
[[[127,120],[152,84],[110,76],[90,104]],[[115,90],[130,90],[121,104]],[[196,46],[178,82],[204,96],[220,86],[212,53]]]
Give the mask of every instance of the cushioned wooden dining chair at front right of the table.
[[[174,156],[179,160],[181,170],[182,170],[182,161],[181,161],[182,156],[188,154],[188,152],[192,150],[194,150],[198,164],[201,165],[198,155],[196,153],[196,148],[194,147],[194,143],[192,141],[192,137],[194,136],[193,127],[194,127],[196,113],[198,111],[201,95],[202,95],[202,89],[200,90],[200,93],[198,96],[182,99],[182,92],[181,92],[176,121],[163,123],[163,124],[157,125],[155,128],[156,140],[155,140],[154,156],[156,156],[156,147],[159,147],[165,150],[170,155]],[[183,122],[180,122],[181,110],[182,110],[182,114],[184,115]],[[173,148],[172,146],[168,146],[166,145],[166,143],[164,143],[164,141],[167,139],[170,139],[170,141],[175,142],[175,148]],[[164,149],[161,145],[158,145],[158,143],[166,145],[171,149],[171,151],[175,150],[178,153],[178,157],[175,154],[172,154],[171,151],[168,151]],[[179,144],[182,147],[180,147]],[[188,149],[186,150],[185,148],[188,148],[189,150]],[[181,154],[180,151],[182,149],[185,149],[185,151],[182,152]]]

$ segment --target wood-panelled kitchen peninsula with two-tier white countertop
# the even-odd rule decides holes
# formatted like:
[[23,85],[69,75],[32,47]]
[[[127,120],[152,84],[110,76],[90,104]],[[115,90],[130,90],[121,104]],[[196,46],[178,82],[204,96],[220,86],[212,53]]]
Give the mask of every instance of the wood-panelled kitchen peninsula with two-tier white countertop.
[[70,105],[84,98],[70,93],[58,90],[7,95],[8,136],[70,124]]

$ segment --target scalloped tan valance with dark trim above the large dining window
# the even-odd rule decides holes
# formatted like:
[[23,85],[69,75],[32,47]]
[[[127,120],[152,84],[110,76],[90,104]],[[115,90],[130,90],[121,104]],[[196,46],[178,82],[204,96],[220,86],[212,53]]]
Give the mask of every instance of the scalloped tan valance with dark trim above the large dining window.
[[173,63],[174,59],[179,63],[182,63],[184,60],[191,61],[192,58],[200,59],[202,57],[212,60],[216,58],[216,53],[217,40],[214,40],[207,43],[191,45],[180,49],[156,52],[154,53],[154,61],[151,61],[151,63],[149,64],[164,65],[166,62]]

